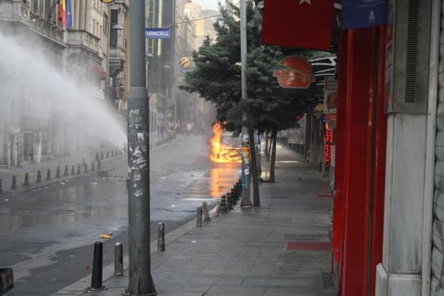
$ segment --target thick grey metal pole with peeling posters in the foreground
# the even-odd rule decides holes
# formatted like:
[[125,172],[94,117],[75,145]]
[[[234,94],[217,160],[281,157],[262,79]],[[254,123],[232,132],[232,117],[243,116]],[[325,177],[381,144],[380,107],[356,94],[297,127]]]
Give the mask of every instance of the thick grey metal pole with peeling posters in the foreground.
[[151,277],[149,104],[146,90],[145,1],[130,5],[128,94],[128,251],[126,295],[157,295]]

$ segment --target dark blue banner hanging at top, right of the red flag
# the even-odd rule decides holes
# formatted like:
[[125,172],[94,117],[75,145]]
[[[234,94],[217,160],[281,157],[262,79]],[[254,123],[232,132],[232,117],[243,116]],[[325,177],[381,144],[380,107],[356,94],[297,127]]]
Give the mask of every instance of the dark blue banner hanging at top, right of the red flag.
[[343,0],[342,28],[366,28],[387,23],[388,0]]

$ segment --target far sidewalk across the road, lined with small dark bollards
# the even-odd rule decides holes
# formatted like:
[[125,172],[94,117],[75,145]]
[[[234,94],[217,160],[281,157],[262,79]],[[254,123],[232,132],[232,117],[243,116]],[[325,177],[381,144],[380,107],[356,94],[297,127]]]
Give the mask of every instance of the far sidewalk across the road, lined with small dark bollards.
[[[162,139],[157,133],[150,133],[150,140],[153,145],[151,149],[159,149],[160,147],[167,145],[172,139],[164,138]],[[22,167],[8,167],[0,169],[0,179],[2,183],[3,192],[22,192],[26,190],[32,190],[34,188],[40,188],[42,186],[47,186],[51,183],[56,183],[58,181],[65,181],[67,179],[73,179],[78,176],[85,175],[84,167],[82,161],[85,160],[87,163],[88,171],[91,170],[92,161],[96,159],[96,153],[101,157],[103,152],[103,159],[101,159],[102,170],[107,170],[106,163],[112,161],[113,159],[123,157],[123,154],[117,153],[117,155],[112,156],[112,149],[115,151],[117,147],[98,147],[94,149],[88,149],[87,151],[80,151],[76,156],[63,156],[59,158],[58,156],[51,158],[49,161],[44,161],[42,163],[26,164]],[[108,158],[106,158],[108,151]],[[126,156],[125,156],[126,157]],[[64,176],[65,165],[68,165],[69,176]],[[77,165],[82,165],[80,167],[80,174],[71,175],[71,168],[74,165],[74,170],[77,173]],[[56,179],[56,170],[60,166],[60,179]],[[97,170],[97,162],[94,164],[95,170]],[[51,181],[46,181],[47,170],[51,169]],[[42,183],[35,183],[37,179],[37,171],[42,174]],[[25,174],[29,174],[29,186],[23,186]],[[92,172],[88,172],[92,174]],[[10,190],[12,185],[12,176],[15,175],[17,178],[17,190]]]

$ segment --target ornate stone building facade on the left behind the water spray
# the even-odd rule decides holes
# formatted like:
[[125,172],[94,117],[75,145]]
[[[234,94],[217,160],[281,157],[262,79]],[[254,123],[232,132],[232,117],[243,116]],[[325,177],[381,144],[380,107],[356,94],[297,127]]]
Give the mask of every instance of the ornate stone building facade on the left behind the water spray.
[[[114,6],[123,7],[119,17],[124,22],[128,1],[115,2]],[[94,99],[111,98],[108,88],[114,85],[110,84],[112,79],[108,79],[108,73],[110,70],[114,73],[114,65],[124,64],[121,60],[126,60],[123,50],[126,42],[122,37],[118,44],[120,51],[110,46],[115,40],[110,30],[111,7],[99,0],[71,0],[70,3],[71,24],[65,26],[56,1],[1,0],[0,34],[6,38],[13,36],[17,44],[35,51],[78,85],[91,85]],[[124,28],[119,30],[120,35],[124,34]],[[16,89],[19,90],[20,85]],[[0,122],[0,165],[40,163],[85,148],[86,143],[80,136],[82,131],[60,114],[27,109],[29,99],[26,92],[1,96],[1,103],[6,106],[1,109],[8,116],[1,116]]]

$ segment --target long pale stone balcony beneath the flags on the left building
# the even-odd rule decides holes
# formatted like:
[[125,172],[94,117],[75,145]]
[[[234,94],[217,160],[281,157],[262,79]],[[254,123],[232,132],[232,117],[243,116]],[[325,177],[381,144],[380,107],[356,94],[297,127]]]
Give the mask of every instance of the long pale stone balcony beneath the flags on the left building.
[[0,0],[0,22],[22,24],[44,38],[59,44],[63,43],[64,30],[33,13],[24,1]]

